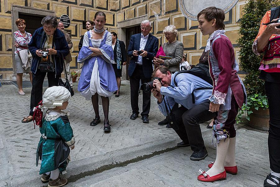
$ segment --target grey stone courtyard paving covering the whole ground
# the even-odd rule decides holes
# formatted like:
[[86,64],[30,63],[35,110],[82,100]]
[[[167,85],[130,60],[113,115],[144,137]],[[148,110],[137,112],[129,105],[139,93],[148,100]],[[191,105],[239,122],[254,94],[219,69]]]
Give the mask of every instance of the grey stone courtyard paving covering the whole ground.
[[[46,87],[44,87],[44,90],[45,89]],[[35,165],[35,152],[40,138],[39,127],[36,126],[34,129],[33,122],[21,123],[21,119],[27,117],[29,113],[31,88],[25,88],[24,91],[26,95],[21,96],[18,94],[17,87],[14,85],[3,85],[3,87],[0,88],[0,186],[44,185],[40,182],[40,176],[38,174],[40,165],[38,167]],[[89,126],[89,123],[95,117],[91,101],[86,101],[77,92],[77,83],[74,83],[74,91],[75,95],[69,100],[67,108],[67,111],[70,112],[69,120],[76,138],[75,149],[70,153],[71,162],[68,166],[68,174],[66,174],[67,177],[72,178],[72,182],[70,179],[69,184],[76,186],[75,181],[77,181],[77,186],[88,186],[79,185],[79,179],[87,175],[103,176],[101,175],[102,171],[109,172],[110,169],[117,170],[116,168],[112,168],[119,168],[118,166],[129,164],[131,162],[132,164],[130,165],[133,165],[132,167],[135,165],[136,169],[131,170],[130,172],[132,173],[128,172],[128,174],[139,175],[139,181],[142,178],[145,179],[145,175],[149,176],[147,179],[153,178],[148,170],[146,173],[144,172],[145,169],[141,168],[143,166],[141,166],[141,163],[145,164],[145,161],[151,163],[143,167],[151,168],[149,170],[153,170],[152,168],[155,167],[155,165],[153,165],[153,161],[150,162],[150,160],[153,160],[154,158],[149,158],[149,155],[151,156],[155,153],[159,154],[161,152],[173,150],[175,149],[174,146],[176,143],[180,141],[179,137],[172,129],[157,125],[157,123],[164,117],[158,110],[155,98],[151,97],[149,124],[142,123],[141,117],[138,117],[136,120],[130,120],[129,117],[132,113],[129,94],[130,87],[128,81],[123,81],[120,97],[112,97],[110,100],[109,120],[112,125],[112,130],[110,133],[105,133],[103,131],[102,107],[99,107],[101,123],[95,127]],[[139,103],[140,106],[142,106],[141,94],[139,96]],[[141,107],[139,108],[141,113]],[[208,159],[203,161],[203,163],[205,162],[204,165],[207,165],[206,163],[208,160],[212,161],[215,158],[215,151],[213,146],[210,145],[212,138],[210,137],[210,131],[205,128],[205,125],[206,124],[201,124],[201,127],[203,136],[206,137],[205,143],[208,145],[208,151],[211,152]],[[242,170],[244,170],[244,177],[246,177],[247,183],[249,181],[254,181],[254,184],[258,184],[254,186],[261,186],[261,181],[265,178],[264,175],[267,175],[269,169],[267,134],[256,131],[247,132],[247,130],[244,130],[243,128],[242,130],[238,130],[238,132],[240,133],[239,137],[244,138],[237,140],[240,142],[238,149],[240,150],[240,153],[242,153],[239,157],[237,156],[237,159],[240,159],[237,160],[238,163],[240,163],[240,174],[242,174]],[[259,133],[261,136],[256,133]],[[258,138],[258,136],[262,138]],[[252,140],[248,138],[252,138]],[[256,144],[256,141],[259,144]],[[182,154],[183,152],[184,154]],[[158,164],[163,165],[163,170],[161,170],[161,167],[156,169],[158,172],[162,172],[160,176],[164,177],[164,175],[169,175],[168,173],[170,172],[180,173],[180,170],[183,167],[183,173],[173,176],[174,179],[179,179],[181,181],[178,185],[186,186],[183,185],[186,182],[190,184],[189,186],[198,186],[193,185],[196,183],[192,183],[193,177],[190,177],[189,173],[191,172],[194,173],[193,175],[196,175],[196,171],[199,167],[203,167],[203,165],[201,165],[202,162],[193,162],[189,160],[191,150],[189,148],[177,149],[166,154],[167,157],[162,159],[162,163],[159,163],[161,159],[155,161]],[[155,157],[161,158],[161,155]],[[145,159],[146,156],[147,159]],[[172,157],[175,157],[176,160],[170,159]],[[177,160],[177,158],[179,160]],[[180,159],[187,162],[181,165],[179,164],[181,163]],[[172,162],[170,164],[172,167],[164,166],[165,163],[168,163],[171,160]],[[243,160],[248,162],[245,164]],[[262,165],[258,166],[256,163],[261,163]],[[127,167],[129,167],[129,165]],[[141,170],[139,168],[141,168]],[[258,171],[258,169],[260,171]],[[121,176],[126,177],[122,171],[123,168],[119,168],[117,173],[119,172]],[[141,173],[143,176],[140,175]],[[250,175],[254,175],[254,177],[250,177]],[[240,177],[241,175],[238,176]],[[242,177],[242,179],[245,179],[244,177]],[[106,183],[104,183],[104,181],[98,183],[97,181],[99,179],[102,181],[101,178],[97,177],[97,179],[94,182],[91,182],[91,184],[96,183],[95,186],[103,186],[100,185],[101,183],[104,184],[104,186],[105,184],[108,186],[122,186],[122,183],[120,182],[121,180],[119,180],[120,183],[116,181],[115,185],[113,185],[114,183],[110,184],[110,182],[108,182],[111,181],[111,179]],[[258,178],[258,180],[255,180],[255,178]],[[106,180],[106,177],[104,180]],[[149,180],[146,180],[145,183],[145,180],[140,183],[126,180],[128,183],[124,186],[129,186],[129,184],[131,184],[131,186],[158,186],[159,184],[162,184],[162,186],[172,186],[168,181],[166,183],[160,182],[165,180],[155,180],[151,184],[147,183]],[[229,180],[231,180],[231,178],[227,181]]]

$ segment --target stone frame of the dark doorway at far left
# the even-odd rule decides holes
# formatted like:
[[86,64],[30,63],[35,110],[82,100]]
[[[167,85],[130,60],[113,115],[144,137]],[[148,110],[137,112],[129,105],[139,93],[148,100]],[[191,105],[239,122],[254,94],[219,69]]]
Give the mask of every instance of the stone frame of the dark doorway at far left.
[[[53,15],[56,17],[56,14],[54,11],[51,10],[45,10],[45,9],[40,9],[40,8],[33,8],[33,7],[24,7],[24,6],[19,6],[19,5],[11,5],[11,16],[12,16],[12,54],[13,54],[13,74],[15,74],[15,40],[13,33],[17,30],[16,26],[16,19],[18,19],[18,14],[19,13],[24,13],[24,14],[35,14],[35,15],[42,15],[42,16],[48,16],[48,15]],[[39,26],[40,27],[40,26]]]

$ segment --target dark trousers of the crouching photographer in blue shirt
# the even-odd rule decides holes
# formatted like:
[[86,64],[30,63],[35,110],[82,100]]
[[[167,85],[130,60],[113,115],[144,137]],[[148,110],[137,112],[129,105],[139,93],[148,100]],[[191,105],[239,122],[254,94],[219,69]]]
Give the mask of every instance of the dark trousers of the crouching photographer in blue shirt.
[[[217,115],[209,111],[209,104],[210,101],[200,103],[189,110],[183,106],[178,108],[178,105],[174,105],[171,110],[179,127],[175,132],[184,143],[190,144],[192,151],[205,149],[199,123],[207,122]],[[170,125],[172,127],[172,124]]]

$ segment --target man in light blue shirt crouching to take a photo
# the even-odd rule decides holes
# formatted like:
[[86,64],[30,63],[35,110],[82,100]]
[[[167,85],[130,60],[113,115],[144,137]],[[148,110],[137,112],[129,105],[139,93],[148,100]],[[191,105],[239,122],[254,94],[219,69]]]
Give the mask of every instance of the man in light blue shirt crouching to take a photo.
[[215,112],[209,111],[212,85],[191,73],[180,71],[171,74],[165,66],[157,67],[152,77],[157,78],[153,80],[152,93],[158,100],[158,107],[182,140],[177,145],[190,145],[194,151],[190,160],[203,160],[208,152],[199,123],[216,116]]

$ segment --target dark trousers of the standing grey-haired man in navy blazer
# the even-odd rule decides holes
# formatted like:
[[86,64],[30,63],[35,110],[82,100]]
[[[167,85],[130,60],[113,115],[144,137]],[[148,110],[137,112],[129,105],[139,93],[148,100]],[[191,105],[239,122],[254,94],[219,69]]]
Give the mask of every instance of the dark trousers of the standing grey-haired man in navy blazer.
[[[130,103],[133,113],[139,114],[138,97],[139,86],[141,83],[150,82],[151,78],[146,78],[143,73],[142,65],[136,65],[133,74],[129,77],[130,82]],[[141,116],[149,116],[151,108],[151,91],[148,93],[143,92],[143,105]]]

